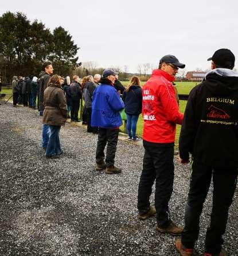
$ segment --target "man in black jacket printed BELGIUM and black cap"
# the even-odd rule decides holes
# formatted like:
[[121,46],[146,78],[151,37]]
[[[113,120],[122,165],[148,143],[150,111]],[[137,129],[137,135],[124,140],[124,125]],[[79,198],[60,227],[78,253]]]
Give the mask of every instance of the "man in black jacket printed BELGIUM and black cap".
[[185,227],[175,247],[192,255],[198,238],[202,207],[213,178],[213,207],[206,231],[205,256],[225,256],[222,249],[228,210],[236,188],[238,158],[238,74],[232,71],[235,56],[217,50],[212,70],[190,92],[180,135],[180,162],[193,156]]

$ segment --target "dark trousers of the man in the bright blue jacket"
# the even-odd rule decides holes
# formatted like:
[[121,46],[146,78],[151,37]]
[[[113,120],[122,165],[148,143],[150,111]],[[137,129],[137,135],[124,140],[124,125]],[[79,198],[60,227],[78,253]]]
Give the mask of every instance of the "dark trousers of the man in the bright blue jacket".
[[114,159],[116,154],[116,145],[118,144],[119,129],[103,129],[99,128],[97,150],[96,150],[96,162],[100,163],[105,155],[104,148],[107,144],[107,154],[105,163],[106,166],[114,166]]

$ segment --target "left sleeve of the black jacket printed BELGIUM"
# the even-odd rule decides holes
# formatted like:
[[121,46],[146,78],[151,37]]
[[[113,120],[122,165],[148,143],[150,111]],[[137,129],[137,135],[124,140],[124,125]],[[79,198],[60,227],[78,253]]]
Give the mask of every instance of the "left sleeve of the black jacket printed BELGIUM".
[[180,132],[180,158],[184,161],[189,160],[189,152],[193,151],[194,138],[196,136],[196,89],[193,89],[188,98],[184,120]]

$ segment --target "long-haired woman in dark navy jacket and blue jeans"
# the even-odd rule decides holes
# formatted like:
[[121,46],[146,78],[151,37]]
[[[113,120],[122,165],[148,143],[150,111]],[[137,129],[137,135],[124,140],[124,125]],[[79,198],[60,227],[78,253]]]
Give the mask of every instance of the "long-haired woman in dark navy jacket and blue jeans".
[[142,89],[140,85],[141,81],[138,77],[131,77],[130,83],[122,95],[127,116],[126,128],[129,140],[139,140],[136,137],[136,125],[139,114],[142,112]]

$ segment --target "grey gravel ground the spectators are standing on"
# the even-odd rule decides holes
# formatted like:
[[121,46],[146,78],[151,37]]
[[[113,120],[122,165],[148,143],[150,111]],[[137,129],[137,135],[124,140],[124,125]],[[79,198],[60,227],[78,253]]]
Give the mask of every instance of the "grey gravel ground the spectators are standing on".
[[[136,218],[143,148],[119,140],[116,163],[123,173],[95,170],[97,137],[66,124],[65,155],[46,159],[35,110],[0,106],[0,255],[178,255],[174,238],[155,231],[155,217]],[[183,224],[189,166],[175,161],[171,217]],[[201,216],[196,248],[202,255],[211,190]],[[151,198],[152,202],[154,197]],[[224,247],[238,255],[237,193],[229,211]]]

